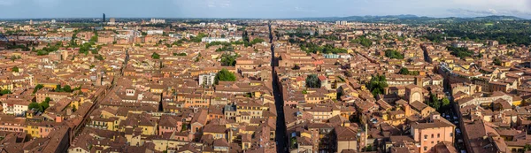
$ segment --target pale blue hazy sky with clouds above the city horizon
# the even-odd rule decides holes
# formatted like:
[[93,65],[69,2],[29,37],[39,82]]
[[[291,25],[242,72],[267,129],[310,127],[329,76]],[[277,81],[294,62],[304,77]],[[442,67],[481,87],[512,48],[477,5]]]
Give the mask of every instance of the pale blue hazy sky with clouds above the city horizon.
[[531,0],[0,0],[0,19],[308,18],[412,14],[531,19]]

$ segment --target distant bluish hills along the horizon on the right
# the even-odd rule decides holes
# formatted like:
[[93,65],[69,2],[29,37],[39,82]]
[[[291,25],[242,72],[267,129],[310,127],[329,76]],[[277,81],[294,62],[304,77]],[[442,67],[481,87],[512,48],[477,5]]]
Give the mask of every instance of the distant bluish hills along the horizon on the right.
[[419,17],[416,15],[386,15],[386,16],[350,16],[350,17],[330,17],[330,18],[304,18],[309,20],[321,21],[359,21],[359,22],[391,22],[391,23],[435,23],[435,22],[459,22],[459,21],[501,21],[501,20],[527,20],[513,16],[486,16],[473,18],[434,18],[434,17]]

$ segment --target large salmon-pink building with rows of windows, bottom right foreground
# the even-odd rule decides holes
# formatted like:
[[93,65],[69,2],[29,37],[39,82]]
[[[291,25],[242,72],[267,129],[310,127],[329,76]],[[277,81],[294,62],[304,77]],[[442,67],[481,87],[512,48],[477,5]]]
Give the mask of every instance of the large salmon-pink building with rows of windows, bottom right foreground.
[[425,153],[439,142],[453,143],[455,128],[450,121],[432,113],[427,122],[413,123],[411,134],[415,142],[420,143],[419,152]]

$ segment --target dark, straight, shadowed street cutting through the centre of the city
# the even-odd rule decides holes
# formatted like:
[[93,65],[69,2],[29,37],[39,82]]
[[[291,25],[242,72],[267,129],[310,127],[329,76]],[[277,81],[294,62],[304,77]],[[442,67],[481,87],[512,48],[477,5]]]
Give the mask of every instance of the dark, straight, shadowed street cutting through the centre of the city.
[[269,23],[269,42],[271,43],[271,74],[273,75],[273,95],[274,104],[277,110],[277,127],[276,127],[276,142],[277,152],[288,152],[287,148],[287,136],[286,136],[286,122],[284,121],[284,101],[281,95],[281,90],[277,84],[277,75],[274,71],[274,44],[273,44],[273,32],[271,29],[271,23]]

